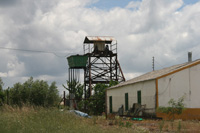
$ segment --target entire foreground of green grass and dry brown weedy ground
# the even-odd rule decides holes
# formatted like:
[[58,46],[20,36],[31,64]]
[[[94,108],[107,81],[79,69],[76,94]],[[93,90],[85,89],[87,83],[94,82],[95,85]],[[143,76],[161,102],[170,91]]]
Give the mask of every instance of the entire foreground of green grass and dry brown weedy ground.
[[7,132],[200,132],[199,121],[133,121],[105,116],[78,117],[68,110],[41,107],[0,107],[0,131]]

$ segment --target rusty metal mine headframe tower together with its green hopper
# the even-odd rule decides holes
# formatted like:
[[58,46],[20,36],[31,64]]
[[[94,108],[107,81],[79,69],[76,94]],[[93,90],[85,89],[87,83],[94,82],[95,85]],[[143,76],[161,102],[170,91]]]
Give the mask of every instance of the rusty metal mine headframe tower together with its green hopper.
[[69,81],[76,78],[75,69],[84,69],[85,98],[92,95],[97,83],[125,81],[117,59],[117,41],[113,37],[86,36],[83,43],[84,55],[68,57]]

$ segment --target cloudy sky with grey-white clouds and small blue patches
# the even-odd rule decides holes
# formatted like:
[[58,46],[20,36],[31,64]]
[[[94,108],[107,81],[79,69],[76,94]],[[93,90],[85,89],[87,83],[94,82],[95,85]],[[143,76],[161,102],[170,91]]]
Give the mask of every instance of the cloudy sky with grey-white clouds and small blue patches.
[[85,36],[114,36],[130,79],[152,71],[153,56],[155,69],[188,51],[199,59],[199,22],[199,0],[0,0],[0,77],[4,88],[33,76],[63,90],[66,56],[83,54]]

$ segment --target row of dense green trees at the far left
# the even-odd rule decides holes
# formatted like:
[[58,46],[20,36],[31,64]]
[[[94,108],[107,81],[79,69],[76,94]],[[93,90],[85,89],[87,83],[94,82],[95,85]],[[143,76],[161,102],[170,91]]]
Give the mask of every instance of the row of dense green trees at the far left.
[[47,81],[33,80],[33,77],[30,77],[24,83],[18,82],[8,89],[3,89],[3,85],[0,78],[0,105],[28,104],[50,107],[58,104],[60,99],[56,82],[49,85]]

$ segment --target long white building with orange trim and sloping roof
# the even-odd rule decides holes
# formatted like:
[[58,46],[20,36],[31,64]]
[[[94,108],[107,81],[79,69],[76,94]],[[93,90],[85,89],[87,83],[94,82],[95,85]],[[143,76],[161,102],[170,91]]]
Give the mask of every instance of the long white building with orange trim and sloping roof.
[[146,105],[147,113],[164,117],[156,108],[167,107],[170,99],[182,96],[187,109],[179,118],[200,119],[200,60],[152,71],[108,88],[106,107],[112,113],[122,105],[126,111],[133,103],[140,103]]

